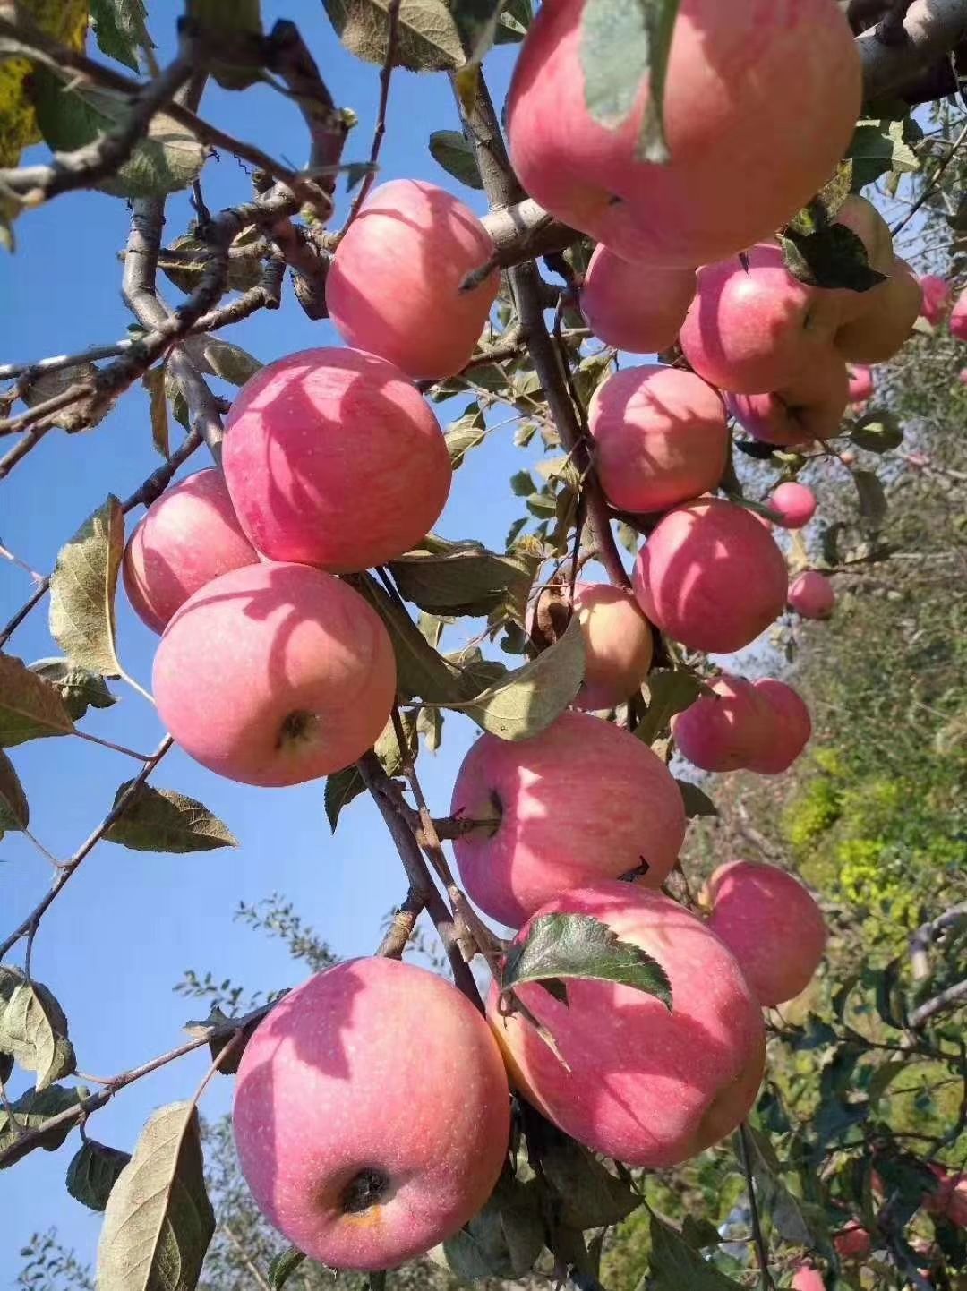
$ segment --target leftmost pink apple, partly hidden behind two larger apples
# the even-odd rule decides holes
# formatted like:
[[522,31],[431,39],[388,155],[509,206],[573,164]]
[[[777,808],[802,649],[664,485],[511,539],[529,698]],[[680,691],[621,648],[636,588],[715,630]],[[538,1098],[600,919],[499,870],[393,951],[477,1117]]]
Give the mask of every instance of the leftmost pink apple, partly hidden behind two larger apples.
[[124,553],[124,590],[142,624],[163,633],[194,591],[257,560],[222,473],[209,467],[188,475],[147,509]]

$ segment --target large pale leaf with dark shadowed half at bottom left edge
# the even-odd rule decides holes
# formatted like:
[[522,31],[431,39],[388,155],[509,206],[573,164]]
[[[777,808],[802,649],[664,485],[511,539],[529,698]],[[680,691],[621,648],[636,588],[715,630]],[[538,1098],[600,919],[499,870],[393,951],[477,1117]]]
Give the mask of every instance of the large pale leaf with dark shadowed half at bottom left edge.
[[172,1103],[148,1119],[107,1201],[98,1291],[190,1291],[213,1233],[198,1112]]

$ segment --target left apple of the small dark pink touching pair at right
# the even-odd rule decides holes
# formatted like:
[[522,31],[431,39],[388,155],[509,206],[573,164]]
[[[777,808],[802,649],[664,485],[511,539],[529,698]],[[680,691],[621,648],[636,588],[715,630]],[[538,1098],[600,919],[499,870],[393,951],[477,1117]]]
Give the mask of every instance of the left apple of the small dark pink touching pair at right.
[[766,745],[772,710],[751,682],[723,675],[671,719],[671,733],[683,758],[702,771],[736,771]]

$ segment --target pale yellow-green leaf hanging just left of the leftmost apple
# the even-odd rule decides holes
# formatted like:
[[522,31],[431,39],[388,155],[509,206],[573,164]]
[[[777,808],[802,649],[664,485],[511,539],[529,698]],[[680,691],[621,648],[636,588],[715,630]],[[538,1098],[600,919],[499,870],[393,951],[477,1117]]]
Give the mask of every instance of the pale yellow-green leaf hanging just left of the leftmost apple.
[[101,676],[121,675],[114,598],[123,556],[121,503],[108,494],[61,547],[50,576],[50,635],[71,664]]

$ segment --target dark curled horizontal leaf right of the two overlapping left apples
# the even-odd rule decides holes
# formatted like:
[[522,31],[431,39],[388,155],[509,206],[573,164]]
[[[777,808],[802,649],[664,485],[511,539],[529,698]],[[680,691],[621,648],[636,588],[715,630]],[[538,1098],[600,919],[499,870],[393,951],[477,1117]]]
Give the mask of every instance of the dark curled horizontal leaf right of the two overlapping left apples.
[[480,542],[449,542],[430,533],[416,551],[390,562],[404,600],[429,613],[489,615],[506,608],[523,621],[537,560],[497,555]]

